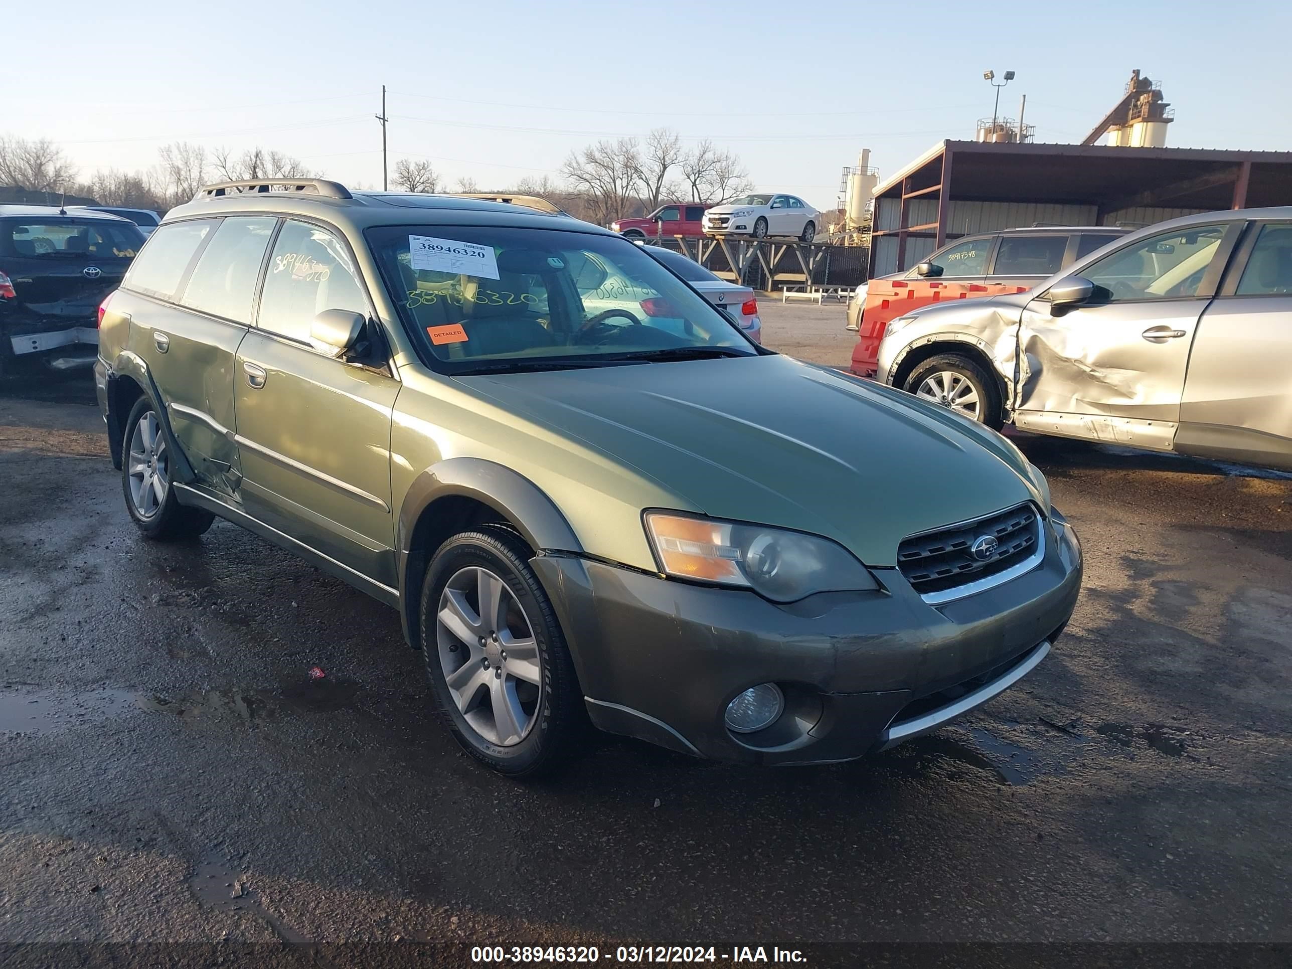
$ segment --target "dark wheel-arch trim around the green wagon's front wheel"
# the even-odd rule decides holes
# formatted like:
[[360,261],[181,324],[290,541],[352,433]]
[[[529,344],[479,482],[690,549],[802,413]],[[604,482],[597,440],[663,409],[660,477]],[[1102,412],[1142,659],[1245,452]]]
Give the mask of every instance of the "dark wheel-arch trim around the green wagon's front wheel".
[[433,548],[417,543],[417,522],[435,501],[466,497],[492,508],[512,522],[537,553],[583,553],[583,545],[561,509],[532,481],[496,461],[479,457],[448,457],[419,474],[399,506],[395,531],[399,601],[404,638],[417,645],[416,623],[422,578]]

